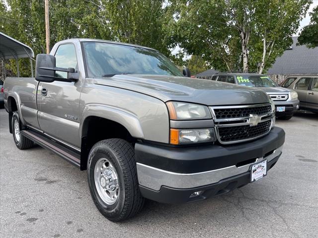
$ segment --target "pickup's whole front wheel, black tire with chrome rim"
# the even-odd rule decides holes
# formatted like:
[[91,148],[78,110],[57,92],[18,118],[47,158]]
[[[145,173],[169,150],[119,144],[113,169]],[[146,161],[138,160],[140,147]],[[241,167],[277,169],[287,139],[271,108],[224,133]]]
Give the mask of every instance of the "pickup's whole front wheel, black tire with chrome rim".
[[135,151],[125,140],[102,140],[91,148],[87,180],[97,209],[110,221],[133,217],[144,205],[138,186]]

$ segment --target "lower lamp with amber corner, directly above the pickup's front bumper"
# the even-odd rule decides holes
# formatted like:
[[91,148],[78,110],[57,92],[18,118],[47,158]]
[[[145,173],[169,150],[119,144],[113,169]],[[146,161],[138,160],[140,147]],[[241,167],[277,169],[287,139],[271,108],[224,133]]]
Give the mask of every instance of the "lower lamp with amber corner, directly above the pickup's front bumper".
[[170,144],[216,141],[214,129],[170,129]]

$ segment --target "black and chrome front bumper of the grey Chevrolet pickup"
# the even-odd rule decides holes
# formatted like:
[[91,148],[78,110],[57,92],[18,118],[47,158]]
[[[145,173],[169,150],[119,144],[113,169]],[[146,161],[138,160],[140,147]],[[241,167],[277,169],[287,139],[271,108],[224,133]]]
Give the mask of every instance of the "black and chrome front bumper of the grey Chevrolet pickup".
[[[257,140],[229,146],[171,148],[136,144],[137,174],[142,195],[178,203],[219,195],[249,182],[250,166],[267,159],[268,169],[282,153],[285,132],[274,127]],[[204,191],[190,198],[195,191]]]

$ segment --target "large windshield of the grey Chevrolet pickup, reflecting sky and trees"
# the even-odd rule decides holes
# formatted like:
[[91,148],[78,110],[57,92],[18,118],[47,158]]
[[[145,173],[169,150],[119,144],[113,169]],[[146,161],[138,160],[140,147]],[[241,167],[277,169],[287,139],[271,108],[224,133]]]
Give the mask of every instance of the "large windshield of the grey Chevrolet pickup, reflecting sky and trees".
[[102,42],[83,42],[83,48],[88,77],[115,74],[183,76],[170,60],[154,50]]

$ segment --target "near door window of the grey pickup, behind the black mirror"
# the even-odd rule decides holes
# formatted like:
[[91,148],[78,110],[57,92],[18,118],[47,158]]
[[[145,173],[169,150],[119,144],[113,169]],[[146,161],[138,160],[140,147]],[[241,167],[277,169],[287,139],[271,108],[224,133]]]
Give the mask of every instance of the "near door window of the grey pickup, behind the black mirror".
[[[56,66],[62,68],[78,68],[75,46],[73,44],[60,45],[55,53]],[[67,78],[67,72],[56,71],[56,77]]]

